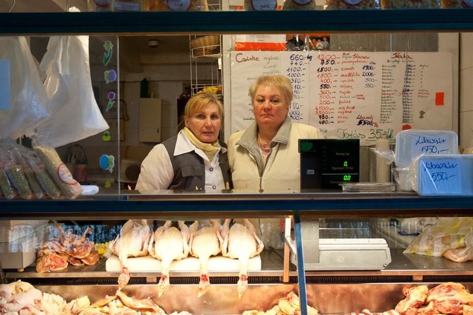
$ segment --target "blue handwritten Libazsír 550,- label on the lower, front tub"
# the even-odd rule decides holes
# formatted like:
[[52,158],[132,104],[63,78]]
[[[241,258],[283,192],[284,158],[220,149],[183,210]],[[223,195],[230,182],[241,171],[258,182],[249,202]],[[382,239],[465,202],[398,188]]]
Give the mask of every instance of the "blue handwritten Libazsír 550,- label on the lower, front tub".
[[461,195],[461,159],[426,158],[419,160],[420,195]]

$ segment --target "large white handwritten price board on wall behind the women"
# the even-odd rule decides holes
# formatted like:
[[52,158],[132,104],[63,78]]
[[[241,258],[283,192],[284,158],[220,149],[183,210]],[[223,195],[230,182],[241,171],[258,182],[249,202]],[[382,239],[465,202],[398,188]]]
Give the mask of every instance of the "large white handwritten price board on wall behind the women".
[[234,51],[231,132],[254,120],[248,88],[260,75],[292,82],[293,121],[326,138],[375,141],[403,129],[451,130],[450,53]]

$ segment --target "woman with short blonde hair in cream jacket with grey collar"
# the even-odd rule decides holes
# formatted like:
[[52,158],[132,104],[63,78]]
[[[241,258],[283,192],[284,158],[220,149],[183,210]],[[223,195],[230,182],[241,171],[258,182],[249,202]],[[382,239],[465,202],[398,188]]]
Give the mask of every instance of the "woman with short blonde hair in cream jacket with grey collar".
[[234,189],[300,189],[299,139],[322,133],[287,115],[293,92],[285,76],[259,77],[249,95],[255,121],[228,141]]

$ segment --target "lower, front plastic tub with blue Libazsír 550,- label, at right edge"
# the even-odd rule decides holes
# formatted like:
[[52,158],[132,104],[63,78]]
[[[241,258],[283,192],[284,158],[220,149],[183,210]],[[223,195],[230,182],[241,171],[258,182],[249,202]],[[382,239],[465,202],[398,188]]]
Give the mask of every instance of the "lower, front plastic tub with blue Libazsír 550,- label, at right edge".
[[473,195],[473,155],[422,155],[411,168],[417,170],[412,182],[421,196]]

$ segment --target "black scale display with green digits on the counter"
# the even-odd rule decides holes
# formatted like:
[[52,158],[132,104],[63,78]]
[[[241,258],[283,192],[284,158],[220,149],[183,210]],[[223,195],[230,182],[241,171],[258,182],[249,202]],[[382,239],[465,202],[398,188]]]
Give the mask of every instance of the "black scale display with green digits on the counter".
[[341,189],[359,182],[358,139],[299,139],[301,189]]

